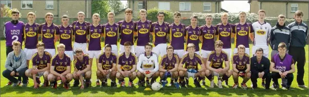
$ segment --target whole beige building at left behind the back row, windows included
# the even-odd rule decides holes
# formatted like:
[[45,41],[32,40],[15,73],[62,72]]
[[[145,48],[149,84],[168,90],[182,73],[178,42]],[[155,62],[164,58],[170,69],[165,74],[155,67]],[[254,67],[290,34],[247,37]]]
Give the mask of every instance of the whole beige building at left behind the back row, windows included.
[[66,14],[70,17],[77,17],[79,11],[83,11],[86,17],[91,17],[91,1],[1,1],[1,4],[8,8],[16,8],[26,17],[28,12],[35,12],[36,17],[43,17],[47,12],[54,14],[54,17],[61,17]]

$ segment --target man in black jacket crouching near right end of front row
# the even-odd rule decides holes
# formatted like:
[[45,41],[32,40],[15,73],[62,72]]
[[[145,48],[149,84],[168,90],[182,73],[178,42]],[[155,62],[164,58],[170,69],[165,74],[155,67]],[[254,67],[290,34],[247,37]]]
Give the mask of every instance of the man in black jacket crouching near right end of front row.
[[267,57],[263,56],[263,49],[258,48],[255,52],[256,56],[251,57],[250,59],[250,71],[251,71],[251,82],[253,84],[252,88],[257,88],[257,79],[265,78],[266,84],[265,89],[269,89],[269,84],[271,84],[272,76],[269,72],[269,66],[271,62]]

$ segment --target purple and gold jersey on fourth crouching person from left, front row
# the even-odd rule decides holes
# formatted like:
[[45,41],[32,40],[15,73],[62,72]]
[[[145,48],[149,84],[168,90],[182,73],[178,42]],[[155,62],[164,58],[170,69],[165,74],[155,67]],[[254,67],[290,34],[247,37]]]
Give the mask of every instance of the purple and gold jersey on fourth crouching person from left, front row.
[[84,54],[83,61],[81,62],[78,57],[75,57],[74,59],[74,71],[84,70],[87,68],[87,65],[89,65],[89,55]]

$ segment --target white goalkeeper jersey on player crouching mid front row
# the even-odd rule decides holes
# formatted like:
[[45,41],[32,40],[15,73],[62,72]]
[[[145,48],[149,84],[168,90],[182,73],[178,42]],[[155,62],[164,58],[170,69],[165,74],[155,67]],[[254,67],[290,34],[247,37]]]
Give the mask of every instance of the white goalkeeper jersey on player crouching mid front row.
[[159,70],[158,55],[154,52],[151,52],[150,56],[146,56],[145,52],[140,54],[137,69],[140,72],[145,70],[151,70],[153,73],[157,72]]

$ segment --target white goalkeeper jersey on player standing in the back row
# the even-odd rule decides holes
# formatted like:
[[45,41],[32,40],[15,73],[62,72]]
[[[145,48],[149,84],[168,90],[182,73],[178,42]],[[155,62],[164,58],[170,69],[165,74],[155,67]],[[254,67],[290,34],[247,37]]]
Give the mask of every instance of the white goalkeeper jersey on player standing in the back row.
[[269,23],[255,22],[252,24],[254,29],[254,46],[268,46],[268,38],[271,35],[272,26]]

